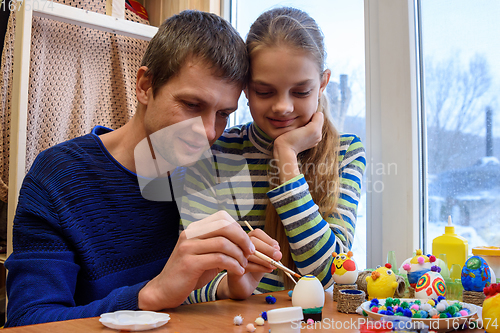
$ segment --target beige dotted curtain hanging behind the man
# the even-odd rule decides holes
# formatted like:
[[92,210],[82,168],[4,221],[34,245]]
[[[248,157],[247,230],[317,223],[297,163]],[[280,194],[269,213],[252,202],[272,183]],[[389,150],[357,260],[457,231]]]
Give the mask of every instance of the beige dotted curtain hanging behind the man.
[[[105,1],[64,1],[105,14]],[[128,8],[126,19],[149,24]],[[0,67],[0,200],[7,202],[15,11]],[[116,129],[136,109],[135,79],[147,41],[33,17],[28,92],[26,172],[39,152],[87,134]]]

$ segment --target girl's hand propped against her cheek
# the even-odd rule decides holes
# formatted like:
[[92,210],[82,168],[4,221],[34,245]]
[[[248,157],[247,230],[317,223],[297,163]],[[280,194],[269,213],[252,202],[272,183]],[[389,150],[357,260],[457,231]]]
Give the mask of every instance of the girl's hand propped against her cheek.
[[315,147],[322,138],[324,115],[315,112],[304,126],[286,132],[274,140],[274,150],[291,149],[295,155]]

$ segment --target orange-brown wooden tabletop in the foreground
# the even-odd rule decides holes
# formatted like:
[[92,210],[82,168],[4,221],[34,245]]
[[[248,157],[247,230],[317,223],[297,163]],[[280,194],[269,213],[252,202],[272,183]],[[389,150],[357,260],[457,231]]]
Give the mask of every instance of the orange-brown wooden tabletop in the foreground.
[[[145,332],[151,333],[190,333],[190,332],[222,332],[222,333],[244,333],[247,332],[246,325],[254,323],[262,311],[292,306],[292,300],[287,292],[272,293],[276,297],[275,304],[267,304],[265,297],[269,294],[252,296],[244,301],[223,300],[193,305],[183,305],[176,309],[166,311],[170,314],[170,321],[157,329]],[[241,315],[243,324],[236,326],[233,318]],[[337,311],[337,303],[333,302],[332,292],[325,294],[325,307],[323,308],[323,321],[316,323],[316,328],[303,328],[302,332],[359,332],[359,326],[366,319],[356,314],[344,314]],[[319,325],[319,324],[322,325]],[[304,325],[305,327],[305,325]],[[85,318],[68,321],[60,321],[47,324],[21,326],[7,328],[8,332],[27,333],[116,333],[104,327],[99,318]],[[124,332],[124,331],[121,331]],[[269,324],[256,326],[255,333],[268,333]],[[481,332],[481,330],[460,330],[458,332]],[[483,330],[484,332],[484,330]]]

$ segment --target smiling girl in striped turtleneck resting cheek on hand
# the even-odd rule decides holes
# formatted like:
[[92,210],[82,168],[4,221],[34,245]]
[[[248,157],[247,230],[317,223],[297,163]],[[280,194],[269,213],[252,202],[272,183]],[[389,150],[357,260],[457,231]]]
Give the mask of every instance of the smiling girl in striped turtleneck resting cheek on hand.
[[[245,95],[254,121],[227,129],[212,146],[213,173],[207,164],[188,171],[183,222],[224,209],[263,228],[279,242],[283,264],[315,275],[327,288],[333,283],[331,254],[352,246],[364,148],[357,136],[339,135],[327,117],[330,70],[324,69],[323,35],[308,14],[269,10],[253,23],[246,44]],[[249,181],[242,180],[235,155],[245,158]],[[221,173],[232,180],[229,186],[217,180],[207,185]],[[273,273],[265,274],[256,293],[293,287],[281,271]]]

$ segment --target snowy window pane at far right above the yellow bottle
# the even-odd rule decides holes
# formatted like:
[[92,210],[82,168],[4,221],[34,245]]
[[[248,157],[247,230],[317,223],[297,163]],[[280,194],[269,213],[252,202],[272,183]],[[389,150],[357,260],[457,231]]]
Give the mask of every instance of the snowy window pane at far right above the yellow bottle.
[[500,244],[500,3],[421,0],[426,249],[444,232]]

